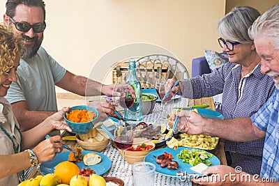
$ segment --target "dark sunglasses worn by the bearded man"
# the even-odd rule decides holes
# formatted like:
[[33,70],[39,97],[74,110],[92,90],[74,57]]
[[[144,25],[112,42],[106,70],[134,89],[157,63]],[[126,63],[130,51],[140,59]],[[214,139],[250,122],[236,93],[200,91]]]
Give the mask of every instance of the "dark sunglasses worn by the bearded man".
[[29,24],[27,22],[16,22],[12,17],[10,17],[10,21],[15,24],[15,28],[19,31],[27,32],[31,28],[34,32],[40,33],[45,30],[45,26],[47,26],[45,23],[38,23],[38,24]]

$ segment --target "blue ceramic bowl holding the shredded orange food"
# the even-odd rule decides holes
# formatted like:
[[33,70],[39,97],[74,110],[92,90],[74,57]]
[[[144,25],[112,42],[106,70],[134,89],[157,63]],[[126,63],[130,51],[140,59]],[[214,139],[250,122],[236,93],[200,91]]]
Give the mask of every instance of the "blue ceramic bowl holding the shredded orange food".
[[93,127],[93,125],[97,122],[98,119],[98,111],[96,109],[94,109],[93,107],[89,107],[86,105],[79,105],[79,106],[75,106],[75,107],[71,107],[70,110],[68,111],[68,113],[70,113],[70,111],[73,110],[86,110],[86,111],[93,111],[93,113],[96,113],[96,118],[94,118],[92,121],[88,121],[85,123],[75,123],[72,121],[68,121],[68,119],[66,118],[66,112],[63,114],[64,120],[66,121],[66,123],[69,125],[69,127],[73,130],[73,133],[75,134],[86,134],[88,133],[91,128]]

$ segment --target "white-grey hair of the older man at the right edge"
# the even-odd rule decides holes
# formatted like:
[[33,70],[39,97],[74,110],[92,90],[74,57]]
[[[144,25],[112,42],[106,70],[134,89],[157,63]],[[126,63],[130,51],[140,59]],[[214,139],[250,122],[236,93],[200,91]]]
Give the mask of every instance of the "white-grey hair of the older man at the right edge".
[[273,37],[274,47],[279,49],[279,4],[266,10],[250,27],[249,36],[252,40],[261,34]]

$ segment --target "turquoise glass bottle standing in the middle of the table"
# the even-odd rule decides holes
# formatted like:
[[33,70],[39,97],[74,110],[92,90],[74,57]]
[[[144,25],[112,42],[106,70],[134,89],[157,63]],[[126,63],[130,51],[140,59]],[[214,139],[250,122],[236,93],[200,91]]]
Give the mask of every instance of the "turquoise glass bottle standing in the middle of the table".
[[142,86],[137,79],[135,68],[135,59],[130,59],[126,84],[130,84],[134,88],[136,99],[132,107],[124,109],[124,118],[127,121],[142,121]]

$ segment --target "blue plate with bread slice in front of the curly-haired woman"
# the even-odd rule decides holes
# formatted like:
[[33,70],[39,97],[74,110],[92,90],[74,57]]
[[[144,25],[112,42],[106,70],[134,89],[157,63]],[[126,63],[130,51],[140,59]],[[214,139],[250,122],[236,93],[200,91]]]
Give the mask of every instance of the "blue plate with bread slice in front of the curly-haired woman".
[[[100,163],[92,165],[92,166],[86,166],[83,163],[83,161],[77,162],[76,164],[80,169],[86,169],[86,168],[90,167],[91,169],[93,169],[93,171],[96,172],[97,175],[102,175],[103,173],[110,170],[110,167],[112,166],[112,161],[110,160],[109,157],[107,157],[106,155],[103,155],[101,153],[94,152],[94,151],[82,150],[82,158],[87,153],[96,153],[97,155],[100,155],[100,157],[102,157],[102,161]],[[40,173],[43,176],[45,176],[47,173],[54,173],[55,166],[57,164],[59,164],[60,162],[68,161],[69,154],[70,154],[70,151],[59,153],[59,154],[56,154],[56,156],[54,157],[53,160],[50,160],[48,162],[43,162],[42,164],[40,164]]]

